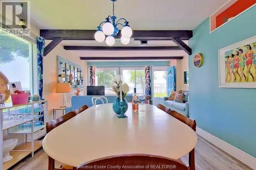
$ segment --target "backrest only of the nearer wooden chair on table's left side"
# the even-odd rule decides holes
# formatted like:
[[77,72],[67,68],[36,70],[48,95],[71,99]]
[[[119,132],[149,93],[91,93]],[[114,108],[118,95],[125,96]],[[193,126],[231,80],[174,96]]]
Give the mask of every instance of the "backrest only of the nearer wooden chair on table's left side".
[[71,111],[55,120],[48,121],[46,123],[46,132],[49,133],[51,130],[53,130],[57,126],[67,122],[69,119],[71,119],[75,115],[76,115],[76,113],[74,111]]

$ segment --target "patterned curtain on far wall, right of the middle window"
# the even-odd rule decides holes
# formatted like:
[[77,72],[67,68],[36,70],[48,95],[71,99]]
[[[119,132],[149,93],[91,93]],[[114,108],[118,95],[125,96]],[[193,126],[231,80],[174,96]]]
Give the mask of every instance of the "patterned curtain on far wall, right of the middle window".
[[148,104],[153,104],[152,94],[151,94],[151,66],[147,65],[145,67],[145,95]]

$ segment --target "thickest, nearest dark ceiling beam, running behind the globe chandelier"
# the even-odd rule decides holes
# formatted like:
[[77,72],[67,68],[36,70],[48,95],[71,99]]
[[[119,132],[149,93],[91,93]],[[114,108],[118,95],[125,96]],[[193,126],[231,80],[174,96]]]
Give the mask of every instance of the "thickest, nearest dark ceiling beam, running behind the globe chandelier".
[[[96,30],[40,30],[40,36],[52,40],[61,37],[63,40],[95,40]],[[120,31],[116,38],[120,38]],[[178,37],[181,40],[189,40],[193,37],[190,30],[134,30],[132,38],[135,40],[172,40]]]

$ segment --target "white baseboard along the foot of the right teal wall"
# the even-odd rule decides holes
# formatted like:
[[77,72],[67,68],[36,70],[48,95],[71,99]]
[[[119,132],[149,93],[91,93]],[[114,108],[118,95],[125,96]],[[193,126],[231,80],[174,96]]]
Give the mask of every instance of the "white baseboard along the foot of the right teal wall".
[[204,139],[208,140],[210,143],[216,145],[221,150],[225,151],[229,155],[233,156],[234,158],[237,158],[244,164],[250,166],[252,169],[256,169],[256,158],[248,155],[244,151],[241,151],[240,149],[233,147],[231,144],[219,139],[218,137],[211,135],[210,133],[200,129],[197,127],[197,134],[202,136]]

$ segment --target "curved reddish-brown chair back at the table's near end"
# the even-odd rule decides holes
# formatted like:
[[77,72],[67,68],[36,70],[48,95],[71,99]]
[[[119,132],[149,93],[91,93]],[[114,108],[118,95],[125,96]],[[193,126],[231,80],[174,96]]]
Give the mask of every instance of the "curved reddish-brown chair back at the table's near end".
[[[110,156],[102,159],[97,159],[87,164],[80,165],[77,169],[86,170],[88,167],[104,167],[102,169],[107,169],[108,167],[121,167],[120,169],[128,169],[137,165],[139,169],[176,169],[176,170],[188,170],[184,163],[179,162],[175,159],[170,159],[155,155],[146,154],[132,154],[132,155],[120,155],[120,156]],[[127,167],[127,168],[123,168]],[[116,169],[116,168],[115,168]],[[135,169],[135,168],[131,168]]]

